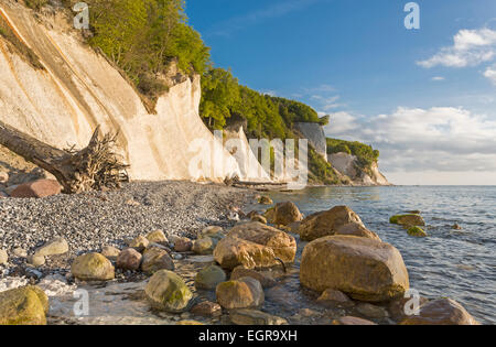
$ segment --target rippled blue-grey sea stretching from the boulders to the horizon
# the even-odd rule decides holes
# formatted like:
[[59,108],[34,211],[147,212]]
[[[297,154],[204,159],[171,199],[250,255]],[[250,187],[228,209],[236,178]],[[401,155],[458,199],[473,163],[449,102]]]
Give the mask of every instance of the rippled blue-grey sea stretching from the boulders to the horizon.
[[[449,296],[481,323],[496,324],[496,186],[317,187],[271,193],[306,216],[347,205],[380,238],[398,248],[411,288],[428,297]],[[409,237],[389,217],[418,209],[429,237]],[[453,230],[459,224],[463,230]]]

